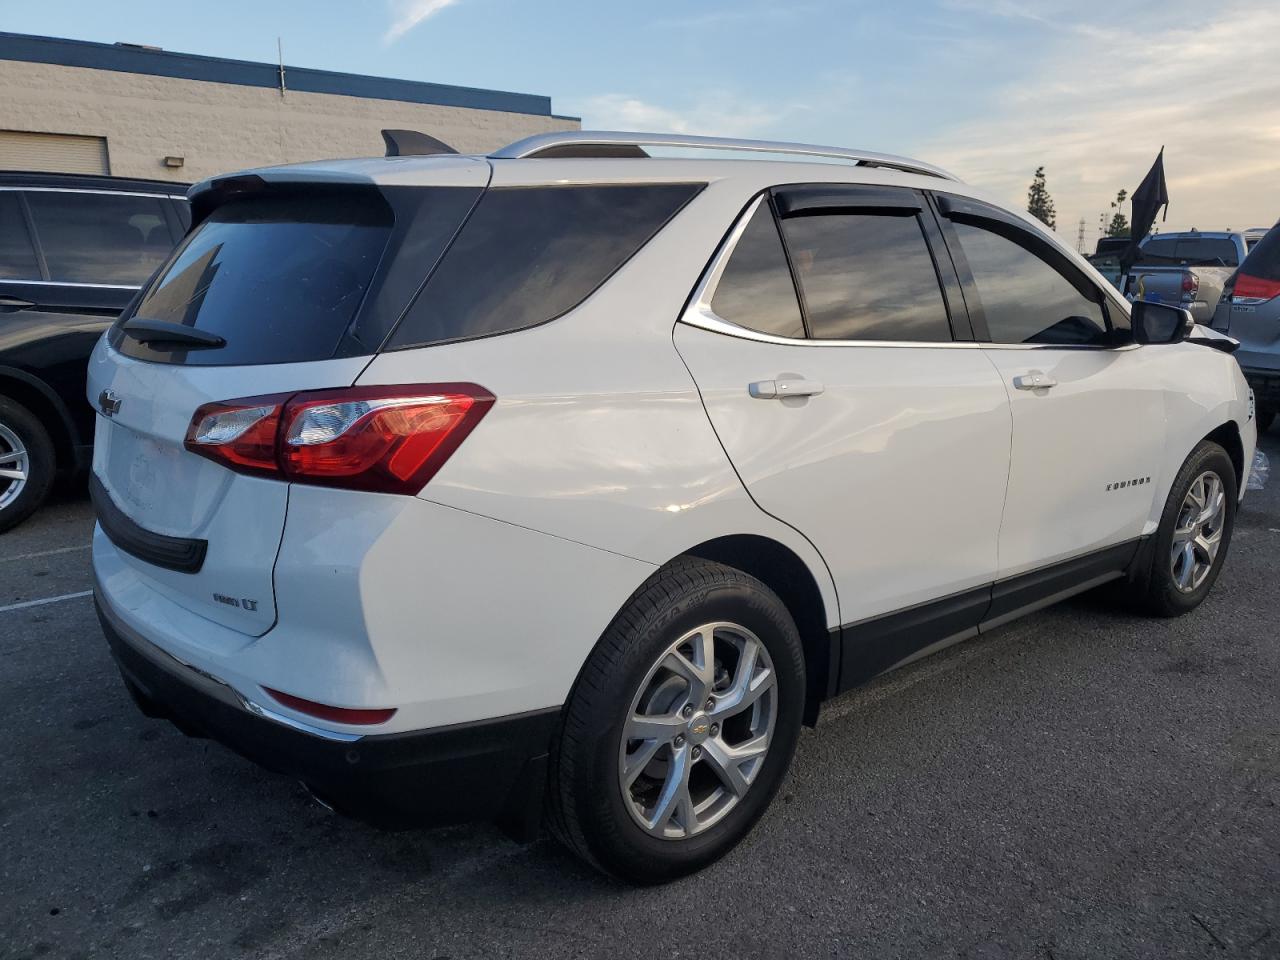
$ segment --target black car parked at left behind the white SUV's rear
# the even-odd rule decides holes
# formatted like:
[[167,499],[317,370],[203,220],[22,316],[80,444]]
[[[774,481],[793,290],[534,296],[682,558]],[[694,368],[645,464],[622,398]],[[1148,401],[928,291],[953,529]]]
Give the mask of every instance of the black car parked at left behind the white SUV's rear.
[[184,189],[0,173],[0,532],[88,467],[88,355],[186,233]]

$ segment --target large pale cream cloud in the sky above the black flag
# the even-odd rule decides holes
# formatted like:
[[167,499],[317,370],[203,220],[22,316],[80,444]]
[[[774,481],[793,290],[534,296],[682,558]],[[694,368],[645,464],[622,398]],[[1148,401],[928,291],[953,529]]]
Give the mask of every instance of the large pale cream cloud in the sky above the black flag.
[[[947,5],[983,26],[970,0]],[[1280,8],[1224,4],[1208,20],[1170,9],[1137,33],[1082,27],[1101,22],[1101,8],[1048,0],[983,12],[1034,31],[1034,58],[984,115],[918,145],[922,156],[1019,206],[1044,164],[1059,232],[1074,241],[1083,216],[1091,246],[1098,214],[1119,188],[1133,191],[1162,145],[1171,202],[1161,229],[1280,216],[1280,76],[1263,68]]]

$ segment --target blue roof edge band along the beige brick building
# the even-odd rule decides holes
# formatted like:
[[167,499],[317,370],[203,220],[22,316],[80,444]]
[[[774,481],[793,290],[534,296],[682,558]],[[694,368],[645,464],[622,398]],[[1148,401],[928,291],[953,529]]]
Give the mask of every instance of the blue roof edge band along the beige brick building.
[[[100,44],[91,40],[65,40],[29,33],[0,31],[0,60],[82,67],[91,70],[138,73],[148,77],[234,83],[244,87],[280,86],[280,67],[253,60],[229,60],[201,54],[179,54],[125,44]],[[471,110],[498,110],[512,114],[561,118],[552,113],[552,100],[536,93],[456,87],[447,83],[369,77],[358,73],[316,70],[284,64],[285,90],[302,93],[332,93],[369,100],[398,100]]]

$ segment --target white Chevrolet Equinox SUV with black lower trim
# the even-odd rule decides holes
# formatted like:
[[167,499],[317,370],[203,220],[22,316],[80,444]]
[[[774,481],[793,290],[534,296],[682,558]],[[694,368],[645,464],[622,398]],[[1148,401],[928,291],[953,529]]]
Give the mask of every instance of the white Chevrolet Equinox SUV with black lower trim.
[[91,362],[101,621],[146,713],[335,809],[545,801],[668,879],[823,700],[1226,554],[1235,360],[927,164],[557,133],[191,200]]

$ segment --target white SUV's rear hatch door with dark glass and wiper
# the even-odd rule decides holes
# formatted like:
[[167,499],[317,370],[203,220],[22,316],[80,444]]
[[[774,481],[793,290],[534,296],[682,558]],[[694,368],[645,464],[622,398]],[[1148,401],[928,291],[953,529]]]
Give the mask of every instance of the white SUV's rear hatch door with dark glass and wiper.
[[[421,161],[420,161],[421,163]],[[120,562],[174,603],[260,636],[289,484],[184,447],[195,412],[244,397],[349,387],[488,182],[451,157],[436,188],[228,178],[193,195],[196,227],[90,364],[91,490]],[[225,186],[229,183],[229,186]],[[221,346],[129,333],[131,319]],[[178,330],[174,337],[182,337]]]

